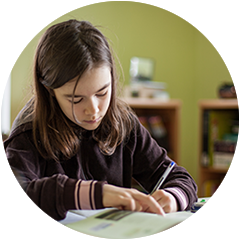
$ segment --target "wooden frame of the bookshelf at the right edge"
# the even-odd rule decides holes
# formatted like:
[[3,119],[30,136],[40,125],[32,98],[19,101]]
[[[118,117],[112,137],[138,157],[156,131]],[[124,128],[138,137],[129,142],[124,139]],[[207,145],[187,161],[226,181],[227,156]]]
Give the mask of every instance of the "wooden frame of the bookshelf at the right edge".
[[[209,146],[204,141],[204,131],[206,131],[206,112],[222,112],[222,114],[227,115],[229,112],[235,116],[239,116],[239,100],[238,99],[214,99],[214,100],[200,100],[199,101],[199,164],[198,164],[198,187],[199,187],[199,197],[207,197],[206,188],[211,188],[211,182],[220,182],[220,188],[224,187],[224,184],[227,184],[225,188],[226,193],[228,191],[233,191],[232,181],[237,181],[239,179],[239,168],[230,168],[230,167],[216,167],[212,165],[211,162],[204,164],[203,153],[205,152],[206,146]],[[204,115],[205,114],[205,115]],[[205,120],[204,120],[205,119]],[[238,119],[237,119],[238,120]],[[205,125],[204,125],[205,124]],[[226,121],[228,124],[228,121]],[[212,131],[212,129],[209,130]],[[209,134],[209,133],[208,133]],[[203,140],[205,139],[205,140]],[[206,140],[209,141],[209,140]],[[205,147],[203,146],[205,145]],[[208,151],[210,151],[208,149]],[[208,155],[209,156],[209,155]],[[208,186],[207,186],[208,184]],[[222,184],[222,185],[221,185]],[[238,182],[239,184],[239,182]],[[235,185],[236,187],[236,185]],[[223,189],[224,189],[223,188]],[[221,190],[220,190],[221,191]],[[224,190],[223,190],[224,191]],[[236,191],[236,190],[235,190]],[[225,192],[223,194],[226,194]]]

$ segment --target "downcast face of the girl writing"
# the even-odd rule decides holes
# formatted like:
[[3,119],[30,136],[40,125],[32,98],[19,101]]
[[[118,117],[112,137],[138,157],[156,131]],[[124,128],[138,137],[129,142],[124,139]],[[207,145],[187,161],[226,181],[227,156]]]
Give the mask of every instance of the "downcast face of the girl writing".
[[[100,125],[110,104],[112,94],[110,68],[102,66],[86,71],[79,79],[72,99],[77,78],[54,89],[55,97],[70,120],[86,130],[94,130]],[[72,104],[78,122],[74,119]]]

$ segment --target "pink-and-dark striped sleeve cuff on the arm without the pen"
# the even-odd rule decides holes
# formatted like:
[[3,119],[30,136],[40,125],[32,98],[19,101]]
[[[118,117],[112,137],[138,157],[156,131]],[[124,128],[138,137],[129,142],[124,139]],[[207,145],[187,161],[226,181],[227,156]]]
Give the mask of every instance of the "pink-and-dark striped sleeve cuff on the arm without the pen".
[[100,209],[102,203],[102,186],[106,182],[78,180],[74,190],[76,209]]

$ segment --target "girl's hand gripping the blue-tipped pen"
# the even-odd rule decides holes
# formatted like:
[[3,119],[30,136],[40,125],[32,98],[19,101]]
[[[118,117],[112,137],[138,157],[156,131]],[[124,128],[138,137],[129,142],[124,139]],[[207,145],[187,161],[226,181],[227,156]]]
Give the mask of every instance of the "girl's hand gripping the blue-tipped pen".
[[177,201],[171,193],[164,190],[157,190],[152,194],[152,197],[163,208],[165,213],[176,212],[178,210]]

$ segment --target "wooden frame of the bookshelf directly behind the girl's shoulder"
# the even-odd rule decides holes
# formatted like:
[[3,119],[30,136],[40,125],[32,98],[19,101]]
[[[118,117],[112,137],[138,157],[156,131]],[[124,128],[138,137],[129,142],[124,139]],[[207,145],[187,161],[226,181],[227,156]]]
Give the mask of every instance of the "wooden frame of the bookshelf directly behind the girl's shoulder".
[[137,116],[160,116],[167,130],[169,149],[168,155],[176,163],[180,163],[179,127],[181,101],[171,99],[162,101],[152,98],[124,98]]

